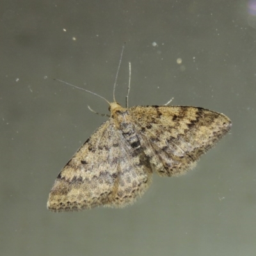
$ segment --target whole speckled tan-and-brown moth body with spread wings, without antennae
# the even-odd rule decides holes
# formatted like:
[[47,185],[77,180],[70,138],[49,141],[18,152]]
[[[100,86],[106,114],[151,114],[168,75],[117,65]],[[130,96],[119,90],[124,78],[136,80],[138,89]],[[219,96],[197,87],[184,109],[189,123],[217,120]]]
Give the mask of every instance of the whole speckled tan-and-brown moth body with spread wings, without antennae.
[[147,190],[152,172],[185,173],[231,127],[227,116],[189,106],[122,108],[113,102],[110,111],[55,180],[51,211],[132,204]]

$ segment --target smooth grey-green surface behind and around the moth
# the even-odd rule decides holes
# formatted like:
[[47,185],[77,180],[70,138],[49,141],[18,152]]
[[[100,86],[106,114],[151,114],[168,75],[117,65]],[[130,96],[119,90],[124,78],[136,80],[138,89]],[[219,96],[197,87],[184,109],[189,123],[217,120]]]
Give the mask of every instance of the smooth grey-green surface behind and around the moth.
[[[255,255],[252,8],[241,0],[2,0],[0,254]],[[104,100],[52,79],[112,100],[124,42],[123,106],[131,61],[130,106],[174,97],[225,113],[232,130],[187,175],[154,175],[130,207],[49,212],[58,172],[106,120],[87,105],[108,113]]]

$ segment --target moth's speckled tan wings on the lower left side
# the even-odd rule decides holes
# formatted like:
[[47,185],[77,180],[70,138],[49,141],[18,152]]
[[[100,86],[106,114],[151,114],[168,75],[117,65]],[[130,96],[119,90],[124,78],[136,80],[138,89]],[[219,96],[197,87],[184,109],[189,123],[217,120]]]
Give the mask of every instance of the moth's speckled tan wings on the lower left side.
[[147,166],[120,137],[113,119],[102,124],[61,170],[49,194],[51,211],[131,204],[150,182]]

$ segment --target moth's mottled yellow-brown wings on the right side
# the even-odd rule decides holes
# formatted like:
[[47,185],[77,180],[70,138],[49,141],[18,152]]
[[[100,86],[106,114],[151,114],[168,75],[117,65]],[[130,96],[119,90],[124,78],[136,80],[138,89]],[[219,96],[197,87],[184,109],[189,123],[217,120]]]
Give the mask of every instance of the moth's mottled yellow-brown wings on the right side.
[[152,169],[161,176],[195,167],[231,127],[220,113],[189,106],[137,106],[129,109]]

